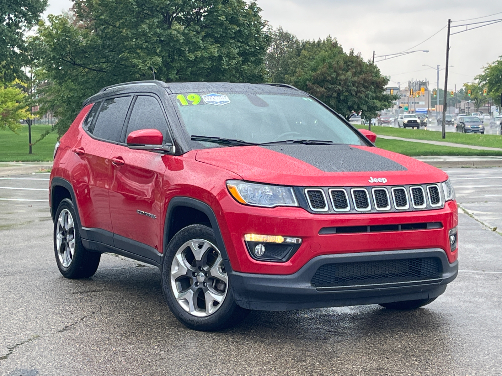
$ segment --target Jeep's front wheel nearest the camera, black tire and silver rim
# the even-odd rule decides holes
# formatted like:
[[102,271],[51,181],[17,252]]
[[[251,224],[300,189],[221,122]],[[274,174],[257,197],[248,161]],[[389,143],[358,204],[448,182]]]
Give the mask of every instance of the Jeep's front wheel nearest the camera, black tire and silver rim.
[[162,263],[162,291],[171,312],[186,327],[228,328],[249,312],[239,307],[214,231],[204,225],[181,229],[169,242]]

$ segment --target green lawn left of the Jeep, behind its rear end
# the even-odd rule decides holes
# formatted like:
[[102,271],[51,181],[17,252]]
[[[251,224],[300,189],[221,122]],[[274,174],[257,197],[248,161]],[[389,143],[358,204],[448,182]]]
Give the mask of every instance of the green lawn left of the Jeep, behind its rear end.
[[[50,125],[32,125],[32,142],[40,138]],[[28,154],[28,125],[23,125],[18,130],[19,134],[10,129],[0,130],[0,162],[36,162],[50,161],[54,153],[58,135],[56,132],[49,134],[43,140],[33,145],[33,154]]]

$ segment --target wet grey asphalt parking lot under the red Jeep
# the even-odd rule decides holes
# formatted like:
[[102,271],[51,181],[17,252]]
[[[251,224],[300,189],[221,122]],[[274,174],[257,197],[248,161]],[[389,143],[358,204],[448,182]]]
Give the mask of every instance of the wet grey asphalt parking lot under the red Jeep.
[[502,374],[502,169],[447,172],[460,272],[432,304],[256,311],[216,333],[174,318],[155,267],[105,254],[92,278],[64,279],[49,175],[2,177],[0,374]]

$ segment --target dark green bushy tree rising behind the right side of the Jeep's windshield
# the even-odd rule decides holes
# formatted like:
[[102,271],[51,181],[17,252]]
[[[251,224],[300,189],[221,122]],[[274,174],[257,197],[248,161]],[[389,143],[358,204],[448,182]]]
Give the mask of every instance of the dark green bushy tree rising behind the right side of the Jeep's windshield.
[[359,112],[370,119],[398,99],[397,95],[386,94],[389,79],[378,67],[353,50],[345,53],[336,39],[298,41],[282,29],[271,36],[269,79],[314,95],[347,119]]

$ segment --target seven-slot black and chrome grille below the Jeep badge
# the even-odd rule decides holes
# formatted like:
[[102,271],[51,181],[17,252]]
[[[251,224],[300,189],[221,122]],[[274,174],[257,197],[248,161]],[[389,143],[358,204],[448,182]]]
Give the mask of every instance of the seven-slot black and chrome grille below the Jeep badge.
[[[444,206],[439,184],[295,189],[311,213],[379,213],[432,210]],[[306,205],[305,205],[306,204]]]

